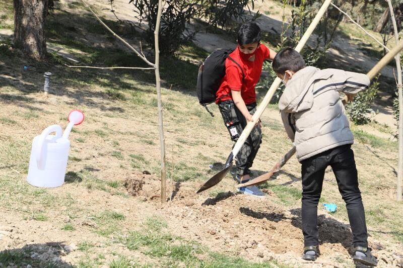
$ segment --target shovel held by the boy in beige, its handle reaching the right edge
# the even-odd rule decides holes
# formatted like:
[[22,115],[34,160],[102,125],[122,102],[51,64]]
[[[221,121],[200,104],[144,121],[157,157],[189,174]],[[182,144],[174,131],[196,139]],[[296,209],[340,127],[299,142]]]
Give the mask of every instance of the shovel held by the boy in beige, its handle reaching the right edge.
[[[383,58],[367,73],[367,76],[369,77],[370,80],[372,80],[375,75],[379,73],[379,71],[385,67],[401,50],[403,49],[403,40],[401,40],[392,50],[390,50]],[[344,97],[343,103],[347,103],[347,96]],[[278,161],[274,167],[268,171],[267,173],[264,173],[263,175],[260,175],[253,180],[244,183],[244,184],[239,184],[237,187],[247,187],[247,186],[252,186],[252,185],[259,185],[262,184],[266,181],[268,181],[276,172],[280,171],[283,165],[287,163],[287,161],[293,156],[295,153],[295,146],[292,147],[281,159]]]

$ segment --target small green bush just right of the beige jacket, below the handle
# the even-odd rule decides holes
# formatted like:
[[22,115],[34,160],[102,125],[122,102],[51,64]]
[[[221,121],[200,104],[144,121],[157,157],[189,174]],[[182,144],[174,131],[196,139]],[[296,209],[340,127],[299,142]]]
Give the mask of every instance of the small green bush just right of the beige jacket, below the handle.
[[371,121],[368,113],[374,114],[371,106],[375,101],[379,89],[378,77],[376,77],[376,80],[371,84],[368,90],[359,93],[354,101],[349,103],[346,107],[350,119],[357,125],[367,124]]

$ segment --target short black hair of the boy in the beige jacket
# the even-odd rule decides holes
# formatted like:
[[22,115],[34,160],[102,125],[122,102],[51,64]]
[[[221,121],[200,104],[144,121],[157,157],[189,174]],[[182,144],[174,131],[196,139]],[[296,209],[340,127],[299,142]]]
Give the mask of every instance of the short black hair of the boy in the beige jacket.
[[305,60],[295,49],[288,47],[280,50],[273,59],[273,70],[284,74],[286,70],[297,72],[306,67]]

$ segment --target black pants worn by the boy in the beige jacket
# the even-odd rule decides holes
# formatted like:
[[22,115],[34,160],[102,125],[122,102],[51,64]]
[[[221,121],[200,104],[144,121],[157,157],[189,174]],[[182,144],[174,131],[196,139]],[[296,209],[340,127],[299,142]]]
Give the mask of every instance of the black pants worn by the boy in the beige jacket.
[[324,172],[331,166],[346,202],[354,246],[367,247],[368,233],[364,206],[358,188],[358,176],[351,145],[343,145],[301,161],[302,164],[302,232],[304,245],[318,244],[317,205],[322,192]]

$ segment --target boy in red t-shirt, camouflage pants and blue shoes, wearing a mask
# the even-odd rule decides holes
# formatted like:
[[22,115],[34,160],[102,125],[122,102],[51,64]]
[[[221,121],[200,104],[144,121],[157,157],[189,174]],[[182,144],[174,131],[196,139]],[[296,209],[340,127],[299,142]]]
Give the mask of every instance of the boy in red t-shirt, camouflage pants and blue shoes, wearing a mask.
[[[273,60],[276,53],[260,43],[260,28],[255,22],[245,23],[238,31],[237,48],[226,59],[225,76],[216,94],[231,139],[237,141],[248,121],[253,121],[256,111],[255,85],[260,78],[263,60]],[[246,183],[261,143],[261,127],[255,128],[235,157],[236,180]],[[242,187],[238,191],[255,197],[264,197],[256,187]]]

